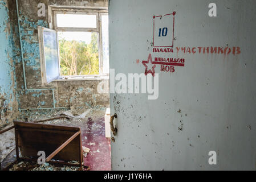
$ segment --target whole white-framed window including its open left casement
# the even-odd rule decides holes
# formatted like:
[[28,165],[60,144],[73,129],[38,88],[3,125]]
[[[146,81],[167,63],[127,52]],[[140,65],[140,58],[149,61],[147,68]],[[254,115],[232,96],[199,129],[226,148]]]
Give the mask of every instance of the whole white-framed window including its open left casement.
[[42,84],[108,78],[107,10],[52,10],[52,29],[39,27]]

